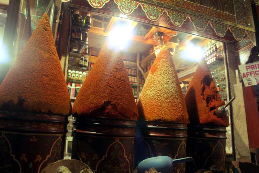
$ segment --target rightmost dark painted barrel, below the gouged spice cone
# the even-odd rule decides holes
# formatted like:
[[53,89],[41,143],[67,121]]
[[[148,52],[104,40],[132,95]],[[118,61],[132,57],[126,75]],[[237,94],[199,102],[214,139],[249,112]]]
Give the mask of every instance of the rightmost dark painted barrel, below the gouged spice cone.
[[187,163],[186,172],[210,170],[212,165],[224,171],[226,132],[221,126],[188,125],[187,156],[193,157],[193,162]]

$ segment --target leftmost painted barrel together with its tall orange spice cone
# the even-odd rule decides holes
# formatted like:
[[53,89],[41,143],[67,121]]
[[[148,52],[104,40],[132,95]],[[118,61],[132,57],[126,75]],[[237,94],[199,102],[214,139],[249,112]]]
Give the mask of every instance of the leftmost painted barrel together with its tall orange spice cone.
[[63,159],[71,102],[44,14],[0,86],[0,167],[41,172]]

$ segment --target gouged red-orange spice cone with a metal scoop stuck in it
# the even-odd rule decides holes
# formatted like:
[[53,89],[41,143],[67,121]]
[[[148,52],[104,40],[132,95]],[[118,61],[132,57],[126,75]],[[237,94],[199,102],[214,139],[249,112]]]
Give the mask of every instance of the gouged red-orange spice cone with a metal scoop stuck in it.
[[225,102],[220,98],[205,60],[199,63],[184,99],[191,124],[228,126],[228,116],[215,115]]

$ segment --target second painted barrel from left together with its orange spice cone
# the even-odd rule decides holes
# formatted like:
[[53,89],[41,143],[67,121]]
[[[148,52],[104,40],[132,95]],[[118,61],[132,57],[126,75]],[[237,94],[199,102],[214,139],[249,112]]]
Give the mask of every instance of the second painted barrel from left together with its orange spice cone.
[[132,172],[138,112],[121,55],[108,41],[77,95],[73,116],[72,159],[93,172]]

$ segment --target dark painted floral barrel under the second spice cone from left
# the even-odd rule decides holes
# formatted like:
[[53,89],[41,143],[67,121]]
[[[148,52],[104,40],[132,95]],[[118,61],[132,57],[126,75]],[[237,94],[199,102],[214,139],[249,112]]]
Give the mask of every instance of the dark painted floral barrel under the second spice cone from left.
[[136,121],[76,117],[72,159],[93,172],[132,172]]

